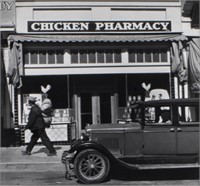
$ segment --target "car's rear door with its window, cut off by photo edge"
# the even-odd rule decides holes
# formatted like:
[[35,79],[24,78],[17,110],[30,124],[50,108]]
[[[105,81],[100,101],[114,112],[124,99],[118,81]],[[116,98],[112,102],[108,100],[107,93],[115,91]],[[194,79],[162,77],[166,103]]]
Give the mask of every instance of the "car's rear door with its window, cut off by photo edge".
[[199,153],[199,106],[179,105],[177,128],[177,154],[197,155]]

